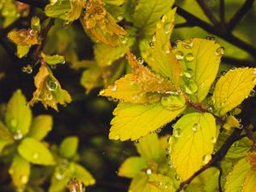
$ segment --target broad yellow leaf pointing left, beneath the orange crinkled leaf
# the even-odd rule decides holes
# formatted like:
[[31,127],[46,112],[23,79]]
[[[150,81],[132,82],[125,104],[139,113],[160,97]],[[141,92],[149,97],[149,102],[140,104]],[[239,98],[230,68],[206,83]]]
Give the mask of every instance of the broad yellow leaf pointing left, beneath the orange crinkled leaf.
[[137,140],[166,125],[183,110],[184,108],[168,110],[160,103],[135,105],[121,102],[113,111],[115,117],[111,121],[109,138],[121,141]]

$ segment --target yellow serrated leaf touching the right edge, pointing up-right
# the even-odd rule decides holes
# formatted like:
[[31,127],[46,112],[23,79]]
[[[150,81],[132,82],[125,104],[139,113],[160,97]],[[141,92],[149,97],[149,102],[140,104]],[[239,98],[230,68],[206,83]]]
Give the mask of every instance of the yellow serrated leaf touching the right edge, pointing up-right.
[[255,84],[255,68],[231,69],[218,80],[215,86],[212,96],[214,108],[220,115],[236,108],[247,98]]

